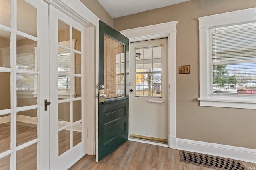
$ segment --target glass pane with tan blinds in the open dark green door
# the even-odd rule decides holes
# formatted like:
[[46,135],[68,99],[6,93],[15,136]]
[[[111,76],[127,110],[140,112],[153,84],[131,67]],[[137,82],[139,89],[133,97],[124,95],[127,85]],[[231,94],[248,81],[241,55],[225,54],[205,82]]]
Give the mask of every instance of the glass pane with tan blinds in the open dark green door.
[[104,35],[104,94],[124,96],[124,45]]

